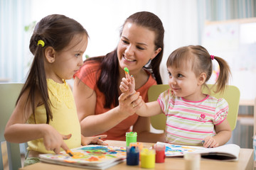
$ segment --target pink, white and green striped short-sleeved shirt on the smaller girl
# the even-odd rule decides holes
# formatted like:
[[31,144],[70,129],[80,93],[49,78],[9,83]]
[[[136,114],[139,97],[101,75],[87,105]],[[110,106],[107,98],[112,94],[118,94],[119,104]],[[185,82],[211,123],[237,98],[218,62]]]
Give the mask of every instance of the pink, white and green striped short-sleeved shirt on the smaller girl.
[[166,142],[176,145],[202,145],[206,136],[214,136],[214,125],[225,120],[228,102],[224,98],[206,96],[201,101],[176,97],[168,89],[157,99],[166,115]]

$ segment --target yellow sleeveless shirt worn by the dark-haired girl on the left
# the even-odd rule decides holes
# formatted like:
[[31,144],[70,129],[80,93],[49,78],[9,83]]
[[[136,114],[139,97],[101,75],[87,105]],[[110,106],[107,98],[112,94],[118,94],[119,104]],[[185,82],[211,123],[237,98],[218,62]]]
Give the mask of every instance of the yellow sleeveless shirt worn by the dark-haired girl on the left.
[[[52,79],[47,79],[47,85],[50,98],[50,111],[53,114],[53,120],[50,120],[49,125],[53,126],[62,135],[72,134],[69,140],[64,140],[70,149],[80,147],[81,129],[70,86],[65,80],[63,84],[58,84]],[[36,108],[35,115],[37,124],[46,123],[46,108],[44,105]],[[28,123],[36,124],[33,115],[28,118]],[[43,145],[43,138],[29,141],[28,150],[54,153],[53,151],[46,150]]]

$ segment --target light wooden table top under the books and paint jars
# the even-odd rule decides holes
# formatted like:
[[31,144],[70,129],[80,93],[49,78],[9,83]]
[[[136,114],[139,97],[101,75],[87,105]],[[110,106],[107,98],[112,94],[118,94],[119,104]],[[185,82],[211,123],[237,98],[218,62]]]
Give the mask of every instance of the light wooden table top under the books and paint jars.
[[[107,140],[109,145],[117,146],[117,147],[125,147],[126,143],[124,141],[115,141],[115,140]],[[143,143],[144,147],[151,147],[153,143]],[[75,168],[72,166],[60,166],[56,164],[47,164],[47,163],[37,163],[30,166],[26,166],[21,168],[20,170],[81,170],[80,168]],[[126,162],[122,162],[121,164],[117,164],[115,166],[110,167],[107,170],[130,170],[130,169],[142,169],[139,166],[127,166]],[[165,163],[156,164],[155,169],[185,169],[185,161],[181,157],[166,157]],[[238,161],[233,162],[224,162],[224,161],[216,161],[211,159],[201,159],[201,169],[207,170],[221,170],[221,169],[253,169],[253,149],[240,149],[240,154]]]

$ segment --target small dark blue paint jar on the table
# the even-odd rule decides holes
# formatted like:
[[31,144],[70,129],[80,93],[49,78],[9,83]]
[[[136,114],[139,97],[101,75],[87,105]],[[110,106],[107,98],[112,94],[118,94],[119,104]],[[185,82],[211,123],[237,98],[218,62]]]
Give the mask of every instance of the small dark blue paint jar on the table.
[[139,165],[138,147],[127,147],[127,165]]

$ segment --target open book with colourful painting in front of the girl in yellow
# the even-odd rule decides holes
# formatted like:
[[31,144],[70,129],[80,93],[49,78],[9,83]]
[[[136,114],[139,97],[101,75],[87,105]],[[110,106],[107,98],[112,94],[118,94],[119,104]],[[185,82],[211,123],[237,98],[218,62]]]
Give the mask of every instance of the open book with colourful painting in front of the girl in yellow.
[[126,159],[124,147],[87,145],[71,149],[73,157],[65,152],[60,154],[40,154],[41,162],[63,164],[87,169],[107,169]]

